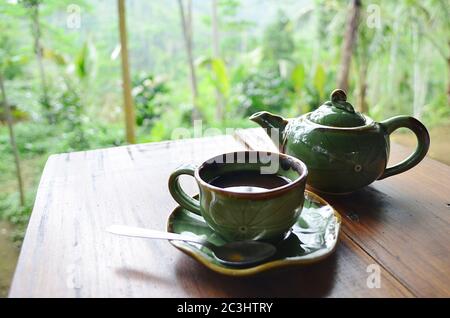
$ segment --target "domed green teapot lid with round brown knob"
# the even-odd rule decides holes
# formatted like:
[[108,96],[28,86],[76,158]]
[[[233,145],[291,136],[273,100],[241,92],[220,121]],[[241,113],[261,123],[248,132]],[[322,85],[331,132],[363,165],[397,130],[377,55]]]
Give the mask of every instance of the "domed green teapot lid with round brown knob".
[[333,127],[358,127],[366,124],[365,117],[347,102],[347,95],[342,89],[335,89],[330,99],[309,114],[310,121]]

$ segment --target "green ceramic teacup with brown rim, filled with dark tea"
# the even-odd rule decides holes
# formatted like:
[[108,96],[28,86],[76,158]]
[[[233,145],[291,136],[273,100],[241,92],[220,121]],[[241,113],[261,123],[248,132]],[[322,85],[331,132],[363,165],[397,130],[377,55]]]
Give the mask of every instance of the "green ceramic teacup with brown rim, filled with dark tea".
[[[197,181],[199,200],[181,189],[178,179],[183,174]],[[183,208],[203,216],[206,223],[228,241],[274,241],[283,238],[300,216],[307,174],[306,165],[297,158],[279,153],[240,151],[216,156],[199,167],[178,168],[169,178],[169,190]],[[248,182],[248,186],[254,186],[256,181],[259,185],[263,179],[289,181],[252,190],[257,192],[217,185],[217,180],[230,179],[229,176],[232,182],[233,178],[244,176],[244,181],[239,181],[243,183],[235,185]]]

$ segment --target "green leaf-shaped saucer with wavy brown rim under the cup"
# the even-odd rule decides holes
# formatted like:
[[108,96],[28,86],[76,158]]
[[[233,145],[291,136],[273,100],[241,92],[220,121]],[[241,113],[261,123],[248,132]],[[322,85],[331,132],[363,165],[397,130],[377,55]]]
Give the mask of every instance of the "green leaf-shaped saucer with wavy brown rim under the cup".
[[[305,203],[299,220],[288,237],[276,244],[277,253],[265,263],[247,268],[228,267],[220,264],[206,247],[182,241],[170,243],[215,272],[247,276],[282,266],[310,264],[326,258],[336,248],[340,226],[339,213],[317,194],[305,191]],[[216,245],[226,243],[208,227],[201,216],[182,207],[177,207],[170,214],[167,231],[202,236]]]

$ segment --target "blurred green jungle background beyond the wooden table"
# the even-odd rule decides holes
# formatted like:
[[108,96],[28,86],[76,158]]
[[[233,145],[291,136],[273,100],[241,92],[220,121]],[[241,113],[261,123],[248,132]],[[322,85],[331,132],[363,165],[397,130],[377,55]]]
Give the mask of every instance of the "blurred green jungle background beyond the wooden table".
[[430,156],[450,164],[449,11],[447,0],[0,0],[0,296],[50,154],[170,139],[196,119],[255,127],[256,111],[298,116],[339,87],[376,120],[422,120]]

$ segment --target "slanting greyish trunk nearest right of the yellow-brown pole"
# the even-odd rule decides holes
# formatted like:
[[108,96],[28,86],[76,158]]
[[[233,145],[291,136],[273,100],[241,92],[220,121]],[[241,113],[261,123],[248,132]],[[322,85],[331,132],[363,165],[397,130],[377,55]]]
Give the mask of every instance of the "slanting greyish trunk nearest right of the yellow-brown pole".
[[191,94],[192,94],[192,122],[196,119],[200,118],[200,112],[197,107],[197,97],[198,97],[198,88],[197,88],[197,75],[195,73],[194,67],[194,58],[192,54],[192,1],[188,0],[187,4],[187,14],[185,14],[184,6],[182,0],[178,0],[178,6],[180,8],[180,17],[181,17],[181,27],[183,30],[183,38],[184,44],[186,48],[186,53],[188,56],[188,64],[189,64],[189,80],[191,84]]

